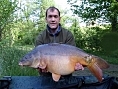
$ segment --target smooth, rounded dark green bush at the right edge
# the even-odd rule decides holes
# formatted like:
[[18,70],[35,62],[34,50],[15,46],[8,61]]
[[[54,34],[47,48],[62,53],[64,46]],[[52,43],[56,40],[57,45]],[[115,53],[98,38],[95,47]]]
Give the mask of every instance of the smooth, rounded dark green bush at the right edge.
[[106,54],[118,57],[118,33],[106,33],[100,42],[100,45]]

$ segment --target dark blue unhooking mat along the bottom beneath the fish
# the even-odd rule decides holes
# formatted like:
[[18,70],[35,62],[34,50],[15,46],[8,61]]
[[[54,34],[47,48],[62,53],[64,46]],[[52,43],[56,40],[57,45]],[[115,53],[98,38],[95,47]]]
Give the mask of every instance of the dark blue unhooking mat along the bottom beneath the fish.
[[98,82],[94,76],[69,76],[55,82],[44,76],[5,76],[0,79],[0,89],[118,89],[117,77],[103,78]]

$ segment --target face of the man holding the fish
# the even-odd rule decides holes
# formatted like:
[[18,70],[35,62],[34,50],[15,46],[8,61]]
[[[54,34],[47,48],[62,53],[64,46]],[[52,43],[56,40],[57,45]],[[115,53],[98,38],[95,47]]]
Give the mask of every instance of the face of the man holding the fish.
[[60,16],[56,9],[54,9],[53,11],[49,9],[47,11],[46,22],[52,30],[57,29],[60,22]]

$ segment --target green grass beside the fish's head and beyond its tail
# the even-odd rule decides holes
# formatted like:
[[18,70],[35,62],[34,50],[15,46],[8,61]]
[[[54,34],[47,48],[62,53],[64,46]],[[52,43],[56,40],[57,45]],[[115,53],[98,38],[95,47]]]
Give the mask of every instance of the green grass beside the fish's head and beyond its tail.
[[[30,51],[33,46],[13,46],[0,47],[0,73],[3,76],[33,76],[39,75],[37,70],[29,67],[22,68],[18,65],[20,58]],[[109,55],[103,55],[100,53],[94,53],[97,56],[102,57],[108,63],[118,64],[118,58]]]

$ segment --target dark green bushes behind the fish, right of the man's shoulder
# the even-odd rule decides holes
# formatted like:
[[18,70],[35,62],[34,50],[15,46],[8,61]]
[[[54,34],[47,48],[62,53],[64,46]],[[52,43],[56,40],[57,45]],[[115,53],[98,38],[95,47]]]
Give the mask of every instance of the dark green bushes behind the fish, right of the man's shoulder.
[[76,45],[85,50],[100,51],[101,37],[108,30],[100,27],[73,29]]

